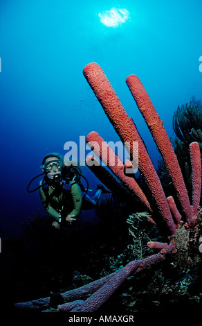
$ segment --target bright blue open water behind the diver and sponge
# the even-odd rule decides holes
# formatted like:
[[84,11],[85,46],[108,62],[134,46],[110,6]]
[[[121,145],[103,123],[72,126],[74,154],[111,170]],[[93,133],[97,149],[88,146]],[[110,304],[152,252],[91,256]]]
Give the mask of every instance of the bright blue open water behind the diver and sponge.
[[[192,96],[202,99],[200,0],[193,1],[0,1],[1,221],[17,232],[39,209],[28,182],[41,173],[46,153],[63,155],[66,141],[92,130],[106,141],[118,136],[86,82],[82,69],[97,62],[154,164],[158,152],[125,79],[136,74],[169,136],[172,115]],[[125,8],[129,19],[104,26],[99,13]],[[84,168],[91,189],[99,180]]]

